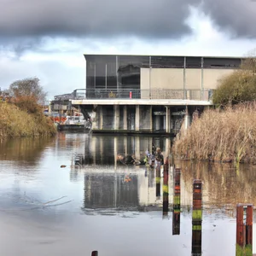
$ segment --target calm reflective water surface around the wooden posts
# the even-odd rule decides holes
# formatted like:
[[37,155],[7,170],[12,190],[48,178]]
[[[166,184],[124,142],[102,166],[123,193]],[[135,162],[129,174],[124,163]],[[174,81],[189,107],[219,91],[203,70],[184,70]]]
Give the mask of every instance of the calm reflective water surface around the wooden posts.
[[[0,255],[191,255],[195,178],[203,181],[203,255],[235,255],[236,203],[256,204],[256,168],[176,161],[182,212],[173,236],[173,173],[166,212],[163,177],[116,161],[143,157],[152,143],[168,153],[163,137],[60,133],[0,143]],[[74,165],[76,156],[84,165]]]

